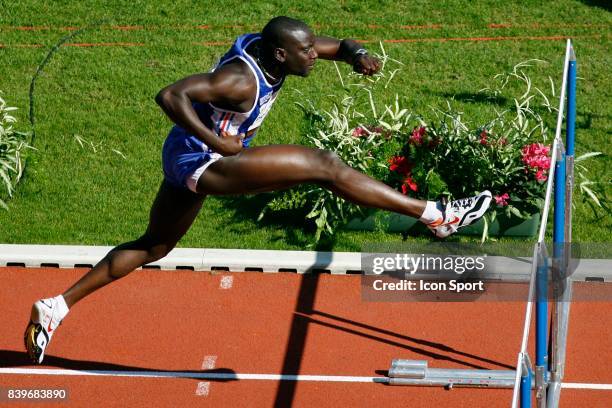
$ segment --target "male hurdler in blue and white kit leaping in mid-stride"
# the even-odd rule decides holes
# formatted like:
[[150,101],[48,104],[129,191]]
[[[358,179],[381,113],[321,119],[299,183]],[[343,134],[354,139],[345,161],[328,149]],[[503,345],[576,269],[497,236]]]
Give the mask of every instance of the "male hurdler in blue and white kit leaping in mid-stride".
[[491,193],[443,204],[407,197],[348,167],[333,152],[296,145],[249,147],[287,75],[308,76],[317,58],[344,61],[364,75],[376,58],[353,40],[315,37],[303,22],[273,18],[259,34],[238,37],[212,72],[184,78],[156,102],[175,123],[163,147],[164,180],[144,235],[110,251],[61,295],[32,306],[25,332],[41,363],[68,309],[93,291],[168,254],[207,195],[251,194],[315,183],[366,207],[406,214],[444,238],[480,218]]

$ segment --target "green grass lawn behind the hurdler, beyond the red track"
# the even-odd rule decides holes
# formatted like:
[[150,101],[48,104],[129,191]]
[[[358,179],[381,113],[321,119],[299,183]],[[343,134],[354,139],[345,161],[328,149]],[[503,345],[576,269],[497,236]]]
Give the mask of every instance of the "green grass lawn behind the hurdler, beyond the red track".
[[[478,124],[495,107],[475,93],[518,62],[547,61],[534,68],[533,78],[550,76],[558,89],[562,38],[573,38],[580,77],[577,153],[605,153],[590,161],[590,178],[610,196],[612,14],[603,1],[120,3],[0,0],[0,90],[20,108],[20,130],[31,130],[28,91],[37,67],[74,34],[36,81],[36,150],[9,211],[0,210],[0,242],[115,245],[136,238],[162,180],[161,146],[171,127],[153,97],[171,82],[207,71],[236,36],[283,14],[305,20],[317,34],[369,41],[372,50],[383,41],[405,66],[381,98],[399,93],[414,112],[451,100],[465,121]],[[255,144],[299,142],[302,114],[295,102],[301,97],[294,90],[325,106],[326,95],[339,89],[326,61],[307,79],[289,78]],[[180,246],[306,249],[312,228],[291,217],[256,221],[265,201],[208,198]],[[609,213],[594,212],[579,193],[574,214],[576,241],[611,240]],[[368,242],[402,239],[341,231],[317,248],[359,251]]]

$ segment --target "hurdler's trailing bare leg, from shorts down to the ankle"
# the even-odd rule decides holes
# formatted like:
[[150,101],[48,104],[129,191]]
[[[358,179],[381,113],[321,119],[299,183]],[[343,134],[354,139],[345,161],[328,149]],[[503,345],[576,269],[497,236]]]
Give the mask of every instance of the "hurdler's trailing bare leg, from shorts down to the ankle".
[[68,307],[134,269],[166,256],[189,230],[204,197],[164,181],[151,208],[146,232],[137,240],[114,248],[63,293]]

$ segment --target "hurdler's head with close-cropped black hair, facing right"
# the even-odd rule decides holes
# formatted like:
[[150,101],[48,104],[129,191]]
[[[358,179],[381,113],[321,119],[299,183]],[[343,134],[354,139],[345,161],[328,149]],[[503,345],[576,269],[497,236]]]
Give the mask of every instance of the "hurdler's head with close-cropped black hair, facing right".
[[307,76],[318,57],[315,36],[300,20],[274,17],[261,32],[263,52],[279,64],[286,75]]

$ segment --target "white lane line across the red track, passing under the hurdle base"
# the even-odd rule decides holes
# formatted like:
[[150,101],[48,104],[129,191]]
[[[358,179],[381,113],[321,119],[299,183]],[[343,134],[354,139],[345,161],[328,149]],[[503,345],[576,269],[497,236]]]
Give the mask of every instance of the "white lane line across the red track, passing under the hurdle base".
[[[66,370],[53,368],[0,368],[0,374],[23,375],[72,375],[141,378],[194,378],[205,380],[264,380],[264,381],[321,381],[353,383],[388,383],[387,377],[357,377],[345,375],[291,375],[291,374],[241,374],[202,373],[198,371],[115,371],[115,370]],[[612,390],[612,384],[563,383],[566,389]]]

